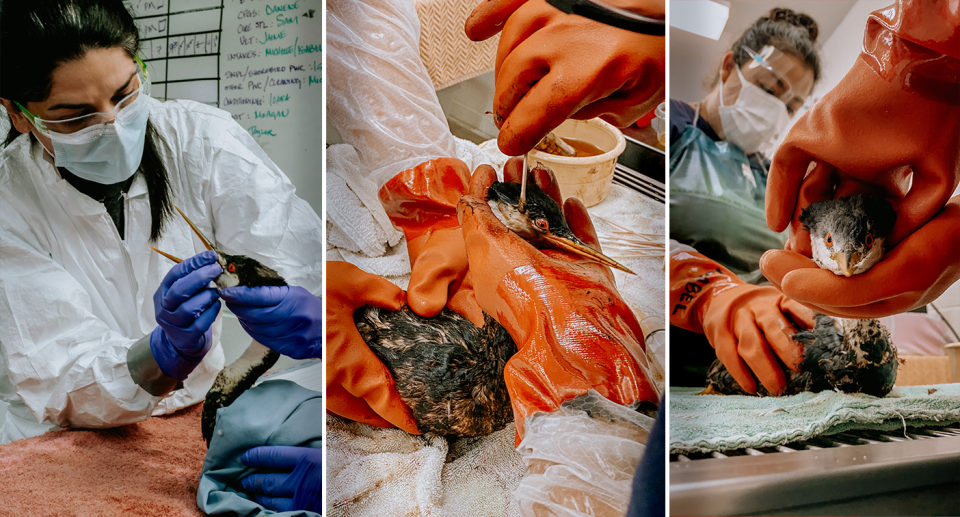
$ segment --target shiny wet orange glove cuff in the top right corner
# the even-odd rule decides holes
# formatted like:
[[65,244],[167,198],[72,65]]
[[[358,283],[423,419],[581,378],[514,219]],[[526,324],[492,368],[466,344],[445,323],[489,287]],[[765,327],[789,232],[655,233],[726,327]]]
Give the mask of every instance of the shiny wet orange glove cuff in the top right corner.
[[956,3],[898,0],[867,19],[861,58],[899,88],[960,105],[960,9]]

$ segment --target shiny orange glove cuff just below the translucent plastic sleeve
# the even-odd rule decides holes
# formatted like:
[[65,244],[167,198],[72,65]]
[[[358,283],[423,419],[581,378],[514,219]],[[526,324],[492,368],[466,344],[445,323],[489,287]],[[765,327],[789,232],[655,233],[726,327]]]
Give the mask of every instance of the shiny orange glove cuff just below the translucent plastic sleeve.
[[437,158],[390,179],[380,203],[390,221],[412,241],[430,230],[459,226],[457,202],[467,192],[470,169],[456,158]]

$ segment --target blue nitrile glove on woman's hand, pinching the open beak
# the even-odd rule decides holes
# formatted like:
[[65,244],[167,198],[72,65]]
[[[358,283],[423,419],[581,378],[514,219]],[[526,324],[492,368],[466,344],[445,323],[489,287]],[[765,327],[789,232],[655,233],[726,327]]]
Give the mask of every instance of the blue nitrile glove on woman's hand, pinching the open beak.
[[150,351],[163,373],[186,379],[213,346],[211,326],[220,312],[210,282],[222,272],[217,253],[204,251],[173,266],[153,294],[157,328]]

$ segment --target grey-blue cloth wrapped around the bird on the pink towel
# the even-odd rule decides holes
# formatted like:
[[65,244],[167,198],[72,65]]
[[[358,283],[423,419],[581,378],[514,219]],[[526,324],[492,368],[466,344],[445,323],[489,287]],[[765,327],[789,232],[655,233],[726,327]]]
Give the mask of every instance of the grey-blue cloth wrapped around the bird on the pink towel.
[[264,381],[229,407],[217,411],[197,490],[197,506],[209,515],[319,517],[311,511],[273,512],[243,492],[241,481],[262,473],[240,456],[261,445],[321,449],[323,399],[316,391],[285,381]]

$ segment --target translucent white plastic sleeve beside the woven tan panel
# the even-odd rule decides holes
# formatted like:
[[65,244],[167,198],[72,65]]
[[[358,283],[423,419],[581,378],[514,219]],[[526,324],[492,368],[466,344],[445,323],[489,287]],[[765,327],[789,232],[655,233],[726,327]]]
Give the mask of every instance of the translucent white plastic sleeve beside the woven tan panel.
[[426,160],[456,156],[419,39],[411,0],[327,4],[327,120],[377,188]]

